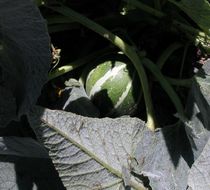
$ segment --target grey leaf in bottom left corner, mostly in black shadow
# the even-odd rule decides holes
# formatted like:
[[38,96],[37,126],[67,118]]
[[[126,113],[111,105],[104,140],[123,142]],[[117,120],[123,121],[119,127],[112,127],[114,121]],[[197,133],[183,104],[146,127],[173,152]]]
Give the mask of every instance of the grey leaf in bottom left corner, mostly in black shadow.
[[64,190],[47,151],[31,138],[0,138],[0,189]]

